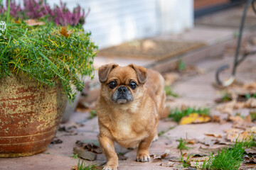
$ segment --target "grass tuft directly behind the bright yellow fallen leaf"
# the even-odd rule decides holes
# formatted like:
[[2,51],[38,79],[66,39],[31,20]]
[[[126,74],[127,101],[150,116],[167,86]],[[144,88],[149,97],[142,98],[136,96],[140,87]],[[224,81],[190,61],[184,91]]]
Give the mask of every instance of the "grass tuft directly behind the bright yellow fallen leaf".
[[177,108],[169,113],[169,118],[173,118],[174,121],[179,122],[184,116],[190,115],[191,113],[198,113],[199,115],[209,115],[210,108],[185,108],[178,110]]

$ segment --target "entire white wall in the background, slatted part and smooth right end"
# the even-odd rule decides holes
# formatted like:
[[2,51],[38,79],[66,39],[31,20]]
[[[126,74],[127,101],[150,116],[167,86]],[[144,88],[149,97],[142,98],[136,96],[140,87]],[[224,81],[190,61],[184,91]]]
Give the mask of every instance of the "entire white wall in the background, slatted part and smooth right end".
[[[85,30],[102,47],[193,27],[193,0],[63,0],[90,8]],[[49,1],[58,4],[59,0]]]

